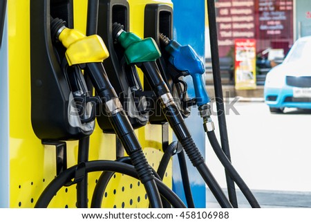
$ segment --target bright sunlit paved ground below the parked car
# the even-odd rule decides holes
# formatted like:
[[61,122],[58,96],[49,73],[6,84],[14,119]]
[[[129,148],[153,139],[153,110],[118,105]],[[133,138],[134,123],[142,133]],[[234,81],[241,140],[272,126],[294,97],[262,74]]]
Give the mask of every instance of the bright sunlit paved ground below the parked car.
[[[271,114],[263,102],[237,102],[234,108],[236,113],[230,109],[226,115],[232,163],[261,205],[311,207],[311,111]],[[217,117],[213,120],[218,129]],[[223,167],[209,142],[206,160],[226,187]],[[216,207],[210,196],[207,206]],[[248,207],[239,199],[242,207]]]

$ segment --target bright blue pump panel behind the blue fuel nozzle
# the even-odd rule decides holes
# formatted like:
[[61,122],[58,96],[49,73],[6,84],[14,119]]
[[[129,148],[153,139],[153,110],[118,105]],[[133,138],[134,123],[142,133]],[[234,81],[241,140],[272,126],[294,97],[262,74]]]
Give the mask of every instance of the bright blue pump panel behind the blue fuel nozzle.
[[[173,1],[173,37],[179,44],[190,45],[201,61],[205,61],[205,1],[172,0]],[[188,84],[189,98],[195,97],[194,84],[191,76],[185,77]],[[191,115],[186,119],[187,127],[191,132],[198,149],[205,157],[205,131],[198,109],[191,107]],[[176,139],[176,138],[174,138]],[[187,160],[191,192],[196,207],[206,207],[205,182],[195,167]],[[173,190],[185,201],[183,193],[178,158],[173,159]]]

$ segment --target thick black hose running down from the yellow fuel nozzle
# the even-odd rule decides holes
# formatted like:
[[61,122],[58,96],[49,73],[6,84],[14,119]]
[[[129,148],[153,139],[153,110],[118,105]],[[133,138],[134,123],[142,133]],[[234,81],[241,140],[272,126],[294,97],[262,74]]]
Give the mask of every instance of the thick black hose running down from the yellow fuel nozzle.
[[[142,153],[140,142],[135,135],[129,118],[120,105],[120,100],[109,81],[103,64],[100,62],[88,63],[84,71],[90,77],[95,91],[100,98],[102,98],[102,103],[106,111],[109,112],[109,121],[113,126],[115,134],[121,140],[126,153],[131,157],[132,164],[138,172],[140,181],[142,181],[142,184],[146,188],[151,207],[162,207],[161,197],[156,189],[155,177],[151,171],[151,167]],[[149,181],[151,182],[147,183]],[[153,190],[153,192],[151,192],[151,190]],[[153,196],[154,194],[156,194],[156,196]]]

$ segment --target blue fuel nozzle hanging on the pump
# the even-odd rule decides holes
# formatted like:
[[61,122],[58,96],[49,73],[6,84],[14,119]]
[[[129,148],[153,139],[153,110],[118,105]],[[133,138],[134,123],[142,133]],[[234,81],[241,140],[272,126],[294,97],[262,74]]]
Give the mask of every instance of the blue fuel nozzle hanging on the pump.
[[191,75],[194,81],[194,92],[196,93],[196,104],[198,104],[198,107],[207,104],[210,99],[202,78],[202,75],[205,73],[205,66],[194,49],[189,45],[181,46],[177,41],[170,40],[163,34],[160,34],[160,41],[164,44],[165,50],[171,55],[169,62],[178,71],[184,71]]

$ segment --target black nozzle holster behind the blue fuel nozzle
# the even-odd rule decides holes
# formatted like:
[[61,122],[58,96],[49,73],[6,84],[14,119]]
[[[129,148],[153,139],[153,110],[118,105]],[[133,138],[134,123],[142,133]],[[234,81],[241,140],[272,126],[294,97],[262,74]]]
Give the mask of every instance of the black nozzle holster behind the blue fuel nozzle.
[[[179,77],[171,75],[173,71],[171,71],[171,64],[168,62],[169,53],[167,53],[162,44],[160,44],[160,33],[164,33],[164,35],[171,38],[173,37],[173,8],[164,4],[149,3],[144,8],[144,37],[151,37],[156,41],[161,52],[161,57],[156,59],[156,64],[164,82],[167,84],[169,91],[171,91],[178,105],[178,109],[180,109],[183,117],[187,118],[190,114],[189,108],[191,107],[189,106],[189,99],[187,98],[187,84]],[[144,82],[148,82],[146,77],[144,77]],[[149,84],[146,84],[144,89],[146,91],[152,91]],[[152,101],[156,101],[155,103],[151,103],[151,107],[155,109],[153,113],[157,115],[151,115],[150,122],[152,124],[167,122],[160,109],[160,102],[156,100],[154,94]]]

